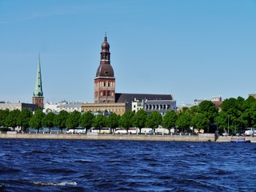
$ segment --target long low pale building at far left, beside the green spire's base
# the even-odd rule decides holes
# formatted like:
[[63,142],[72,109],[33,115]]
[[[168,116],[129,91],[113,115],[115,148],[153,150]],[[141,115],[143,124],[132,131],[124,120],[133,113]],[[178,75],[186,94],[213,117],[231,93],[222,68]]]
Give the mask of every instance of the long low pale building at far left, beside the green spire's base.
[[17,103],[11,103],[11,102],[1,102],[0,103],[0,110],[31,110],[34,112],[35,110],[38,110],[39,106],[36,104],[31,103],[24,103],[24,102],[17,102]]

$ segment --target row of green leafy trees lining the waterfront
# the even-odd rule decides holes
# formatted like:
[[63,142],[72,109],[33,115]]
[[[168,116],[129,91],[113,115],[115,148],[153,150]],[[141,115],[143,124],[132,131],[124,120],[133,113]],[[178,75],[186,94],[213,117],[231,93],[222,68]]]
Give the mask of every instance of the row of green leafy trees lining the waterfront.
[[80,113],[75,110],[68,113],[65,110],[59,114],[50,112],[44,114],[42,110],[36,110],[34,114],[30,110],[0,110],[0,126],[12,127],[15,129],[21,126],[22,130],[27,127],[39,129],[42,126],[58,126],[60,129],[74,129],[78,126],[90,129],[90,127],[122,127],[128,130],[130,127],[138,127],[141,131],[143,127],[150,127],[153,130],[159,125],[168,130],[175,128],[178,132],[191,131],[192,127],[205,132],[238,132],[245,127],[256,126],[256,99],[228,98],[222,102],[222,110],[219,111],[213,102],[203,101],[198,106],[190,108],[184,107],[178,110],[168,111],[163,117],[158,111],[146,114],[145,110],[138,110],[136,114],[126,111],[122,116],[110,114],[108,117],[103,114],[90,112]]

